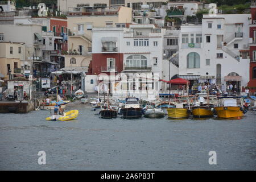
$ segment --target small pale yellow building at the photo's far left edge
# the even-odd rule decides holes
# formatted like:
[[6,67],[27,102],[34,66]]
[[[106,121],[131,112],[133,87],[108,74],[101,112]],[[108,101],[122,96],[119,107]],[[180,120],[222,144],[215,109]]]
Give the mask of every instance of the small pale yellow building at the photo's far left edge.
[[0,72],[6,79],[22,73],[21,61],[24,60],[24,43],[0,42]]

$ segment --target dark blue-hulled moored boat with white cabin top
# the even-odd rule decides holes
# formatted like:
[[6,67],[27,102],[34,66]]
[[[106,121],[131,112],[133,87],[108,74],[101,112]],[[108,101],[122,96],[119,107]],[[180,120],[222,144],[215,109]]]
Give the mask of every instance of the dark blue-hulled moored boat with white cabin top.
[[127,97],[125,99],[125,106],[121,109],[123,118],[135,119],[142,117],[142,108],[139,105],[139,98]]

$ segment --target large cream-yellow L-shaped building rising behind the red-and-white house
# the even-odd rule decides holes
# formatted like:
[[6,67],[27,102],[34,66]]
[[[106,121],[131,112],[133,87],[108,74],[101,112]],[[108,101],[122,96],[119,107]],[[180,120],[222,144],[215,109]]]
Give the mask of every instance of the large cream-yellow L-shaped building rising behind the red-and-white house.
[[[71,7],[68,10],[68,52],[65,68],[89,66],[92,52],[92,28],[121,27],[132,22],[132,9],[115,7],[105,9],[85,9]],[[87,72],[86,70],[84,70]]]

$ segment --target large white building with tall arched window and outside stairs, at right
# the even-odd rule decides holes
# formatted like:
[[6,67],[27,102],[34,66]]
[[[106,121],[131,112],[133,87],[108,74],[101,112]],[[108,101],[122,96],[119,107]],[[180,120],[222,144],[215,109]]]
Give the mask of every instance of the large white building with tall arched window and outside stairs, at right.
[[250,14],[203,16],[202,25],[181,26],[179,77],[193,82],[232,82],[238,88],[249,81]]

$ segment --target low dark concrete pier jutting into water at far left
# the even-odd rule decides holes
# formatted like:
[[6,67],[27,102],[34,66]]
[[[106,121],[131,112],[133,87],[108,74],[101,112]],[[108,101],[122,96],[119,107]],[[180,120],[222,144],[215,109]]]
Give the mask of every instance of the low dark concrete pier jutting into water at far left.
[[36,106],[36,100],[0,101],[0,113],[28,113],[34,110]]

